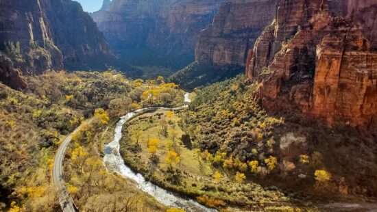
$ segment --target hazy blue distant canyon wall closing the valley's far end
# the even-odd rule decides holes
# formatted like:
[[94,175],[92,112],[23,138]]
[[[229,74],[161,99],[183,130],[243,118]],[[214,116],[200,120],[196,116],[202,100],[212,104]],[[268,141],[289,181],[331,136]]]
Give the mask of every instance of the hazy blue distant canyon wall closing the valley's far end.
[[146,51],[147,57],[149,49],[193,55],[199,31],[210,25],[222,1],[113,0],[92,16],[119,57],[127,51]]

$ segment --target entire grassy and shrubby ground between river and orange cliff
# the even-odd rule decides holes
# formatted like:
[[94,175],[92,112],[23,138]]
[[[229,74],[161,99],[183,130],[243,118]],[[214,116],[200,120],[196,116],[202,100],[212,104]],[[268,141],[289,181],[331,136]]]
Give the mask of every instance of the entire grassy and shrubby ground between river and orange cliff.
[[[295,111],[268,113],[254,97],[257,85],[243,79],[196,89],[189,111],[173,118],[162,112],[135,118],[124,129],[125,161],[210,207],[295,211],[290,204],[376,198],[376,129],[330,128]],[[143,134],[138,144],[134,131]],[[154,137],[158,146],[148,155]],[[169,163],[171,150],[177,164]]]

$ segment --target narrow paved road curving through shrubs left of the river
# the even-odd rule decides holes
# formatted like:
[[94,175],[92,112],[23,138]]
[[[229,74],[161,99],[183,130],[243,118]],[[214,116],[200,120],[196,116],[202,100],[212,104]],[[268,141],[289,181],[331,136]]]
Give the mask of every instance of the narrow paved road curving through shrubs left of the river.
[[65,155],[66,148],[72,140],[72,134],[68,135],[66,139],[62,142],[56,152],[55,160],[53,161],[53,184],[55,185],[56,190],[58,191],[59,203],[64,212],[75,212],[75,204],[73,203],[72,197],[69,195],[68,189],[63,178],[63,159]]

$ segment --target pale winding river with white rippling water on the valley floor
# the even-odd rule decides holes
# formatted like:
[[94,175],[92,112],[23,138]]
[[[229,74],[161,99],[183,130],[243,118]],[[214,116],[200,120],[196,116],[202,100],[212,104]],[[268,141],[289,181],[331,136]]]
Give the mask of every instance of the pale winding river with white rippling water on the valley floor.
[[[189,93],[186,93],[184,95],[184,102],[190,103],[191,100],[189,98]],[[167,191],[163,189],[162,187],[158,187],[158,185],[154,185],[153,183],[150,183],[148,181],[145,181],[145,178],[138,173],[135,173],[129,168],[127,165],[125,165],[123,158],[121,157],[121,154],[119,152],[120,150],[120,144],[122,137],[122,128],[123,124],[136,116],[137,114],[140,114],[143,111],[151,111],[153,109],[166,109],[166,110],[179,110],[184,109],[188,107],[187,105],[183,105],[181,107],[175,107],[175,108],[165,108],[165,107],[158,107],[158,108],[143,108],[138,109],[134,112],[130,112],[126,114],[125,116],[121,117],[121,120],[117,122],[117,127],[115,128],[115,135],[114,140],[105,146],[105,156],[104,156],[104,164],[106,168],[110,171],[117,172],[121,174],[121,176],[125,178],[130,178],[134,180],[138,188],[142,191],[145,191],[147,194],[150,194],[151,196],[154,196],[156,200],[162,204],[165,204],[168,207],[175,207],[175,208],[181,208],[185,209],[186,211],[217,211],[215,209],[210,209],[208,207],[203,206],[202,204],[199,204],[195,200],[182,198],[179,195],[173,194],[171,191]]]

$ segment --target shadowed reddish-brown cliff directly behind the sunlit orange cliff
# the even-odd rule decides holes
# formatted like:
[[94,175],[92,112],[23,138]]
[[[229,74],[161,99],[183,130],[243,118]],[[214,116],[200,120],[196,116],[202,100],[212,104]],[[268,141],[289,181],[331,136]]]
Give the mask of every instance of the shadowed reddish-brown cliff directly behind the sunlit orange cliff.
[[195,61],[219,66],[245,66],[251,49],[263,29],[275,17],[276,0],[228,1],[199,35]]

